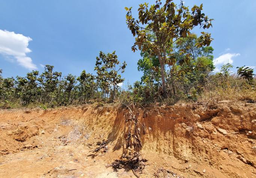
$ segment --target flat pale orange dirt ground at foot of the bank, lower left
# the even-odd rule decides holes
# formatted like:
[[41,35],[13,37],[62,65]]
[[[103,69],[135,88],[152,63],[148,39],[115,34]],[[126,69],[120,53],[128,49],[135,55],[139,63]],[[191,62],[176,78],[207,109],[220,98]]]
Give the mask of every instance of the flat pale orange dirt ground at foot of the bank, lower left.
[[[106,168],[102,158],[88,156],[85,145],[61,145],[49,141],[42,148],[25,149],[1,156],[0,177],[118,177],[132,172],[118,173]],[[129,176],[128,176],[129,177]]]

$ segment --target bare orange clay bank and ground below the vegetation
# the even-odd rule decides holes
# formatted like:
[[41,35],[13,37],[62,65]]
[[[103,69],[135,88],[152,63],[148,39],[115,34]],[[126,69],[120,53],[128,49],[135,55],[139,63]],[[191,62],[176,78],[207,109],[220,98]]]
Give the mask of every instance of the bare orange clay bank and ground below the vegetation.
[[[135,177],[120,159],[125,108],[0,110],[0,177]],[[256,103],[176,104],[136,111],[146,124],[140,177],[256,177]],[[142,131],[142,130],[141,130]],[[92,152],[97,142],[107,147]]]

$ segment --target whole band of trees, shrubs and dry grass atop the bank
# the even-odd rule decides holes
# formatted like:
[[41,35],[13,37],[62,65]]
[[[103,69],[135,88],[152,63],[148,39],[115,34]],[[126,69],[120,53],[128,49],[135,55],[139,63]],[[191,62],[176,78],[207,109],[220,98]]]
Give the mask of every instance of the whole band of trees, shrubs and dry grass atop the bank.
[[[208,99],[256,99],[255,75],[250,67],[237,67],[231,73],[231,64],[222,66],[214,74],[211,34],[201,36],[191,31],[195,27],[208,29],[211,21],[202,12],[202,4],[191,10],[171,0],[160,0],[149,6],[140,4],[138,20],[127,10],[126,22],[135,36],[133,51],[141,50],[138,70],[140,81],[127,90],[118,86],[124,82],[121,74],[127,64],[120,64],[115,51],[100,52],[96,57],[96,75],[82,71],[80,76],[63,76],[54,66],[45,65],[42,74],[31,71],[27,76],[3,78],[0,69],[0,106],[36,107],[43,109],[89,102],[137,102],[141,105]],[[244,93],[247,93],[245,96]],[[235,95],[236,94],[236,95]]]

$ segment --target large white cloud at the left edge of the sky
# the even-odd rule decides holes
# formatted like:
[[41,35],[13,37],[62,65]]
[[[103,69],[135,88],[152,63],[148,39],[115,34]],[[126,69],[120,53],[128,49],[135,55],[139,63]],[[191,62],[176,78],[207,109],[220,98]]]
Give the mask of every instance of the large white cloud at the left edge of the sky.
[[26,53],[31,52],[28,43],[32,41],[30,37],[16,34],[13,31],[0,30],[0,54],[6,59],[15,58],[16,62],[29,70],[37,69],[30,57]]

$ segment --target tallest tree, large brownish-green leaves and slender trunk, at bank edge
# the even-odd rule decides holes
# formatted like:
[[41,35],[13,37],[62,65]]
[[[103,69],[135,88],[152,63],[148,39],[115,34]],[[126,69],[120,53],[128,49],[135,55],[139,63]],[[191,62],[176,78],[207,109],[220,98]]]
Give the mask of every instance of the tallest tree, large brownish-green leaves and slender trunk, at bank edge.
[[[162,90],[164,97],[167,97],[166,83],[165,83],[165,64],[169,53],[173,52],[173,44],[182,37],[187,37],[191,34],[191,30],[200,26],[202,28],[209,28],[211,21],[204,13],[202,13],[202,4],[200,6],[193,6],[191,12],[188,7],[180,4],[174,4],[172,0],[166,0],[164,5],[161,0],[156,1],[155,5],[148,6],[148,3],[140,4],[138,8],[138,18],[136,20],[132,17],[131,7],[125,7],[128,11],[126,15],[127,25],[135,38],[135,43],[132,50],[148,51],[152,49],[153,53],[158,56],[161,68]],[[155,34],[155,38],[147,33]],[[198,38],[198,47],[209,46],[212,39],[210,34],[201,32],[202,35]],[[181,51],[182,53],[183,51]],[[187,59],[190,59],[190,54]],[[169,61],[175,61],[175,58],[170,58]]]

